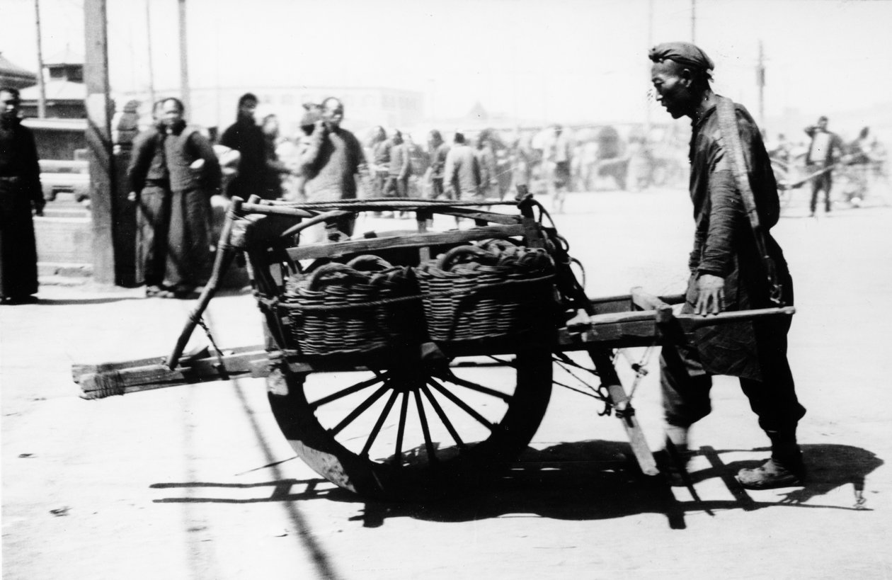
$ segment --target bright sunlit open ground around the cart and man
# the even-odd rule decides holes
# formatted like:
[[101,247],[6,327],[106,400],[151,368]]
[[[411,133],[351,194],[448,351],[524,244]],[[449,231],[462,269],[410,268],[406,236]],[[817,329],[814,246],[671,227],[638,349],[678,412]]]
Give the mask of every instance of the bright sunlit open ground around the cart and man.
[[[616,419],[556,390],[526,455],[555,468],[441,504],[362,501],[293,460],[260,381],[78,399],[72,363],[164,355],[191,304],[42,286],[40,303],[0,309],[4,578],[888,578],[892,208],[879,201],[812,220],[794,200],[774,230],[797,282],[790,359],[813,474],[776,491],[723,477],[766,442],[720,378],[693,442],[696,498],[635,476],[616,461],[629,453]],[[590,294],[681,291],[684,193],[575,194],[566,209]],[[248,295],[214,299],[209,321],[221,344],[260,342]],[[654,443],[655,381],[636,395]]]

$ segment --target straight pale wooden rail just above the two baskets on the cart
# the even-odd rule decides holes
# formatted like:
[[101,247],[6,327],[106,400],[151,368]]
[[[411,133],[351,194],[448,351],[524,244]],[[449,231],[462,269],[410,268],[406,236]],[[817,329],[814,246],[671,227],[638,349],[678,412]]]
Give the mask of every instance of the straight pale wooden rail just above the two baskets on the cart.
[[288,256],[294,260],[313,258],[334,258],[351,253],[375,253],[393,248],[418,248],[425,245],[462,244],[489,237],[524,236],[524,227],[486,226],[484,228],[413,234],[411,236],[371,237],[361,240],[337,242],[336,244],[309,244],[288,248]]

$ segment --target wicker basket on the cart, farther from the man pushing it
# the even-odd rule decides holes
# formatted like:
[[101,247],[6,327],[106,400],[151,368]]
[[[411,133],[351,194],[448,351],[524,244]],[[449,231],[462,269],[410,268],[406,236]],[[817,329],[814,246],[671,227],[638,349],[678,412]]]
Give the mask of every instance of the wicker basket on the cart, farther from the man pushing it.
[[377,256],[329,263],[289,281],[281,308],[291,322],[294,347],[304,355],[357,354],[419,344],[424,316],[412,269]]

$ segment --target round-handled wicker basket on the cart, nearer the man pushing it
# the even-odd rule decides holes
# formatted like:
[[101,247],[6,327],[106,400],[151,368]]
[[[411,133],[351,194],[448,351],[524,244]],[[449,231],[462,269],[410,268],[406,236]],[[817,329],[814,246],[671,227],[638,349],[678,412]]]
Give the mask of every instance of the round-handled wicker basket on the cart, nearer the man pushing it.
[[458,342],[548,328],[553,271],[541,249],[504,241],[453,248],[417,269],[428,334]]

